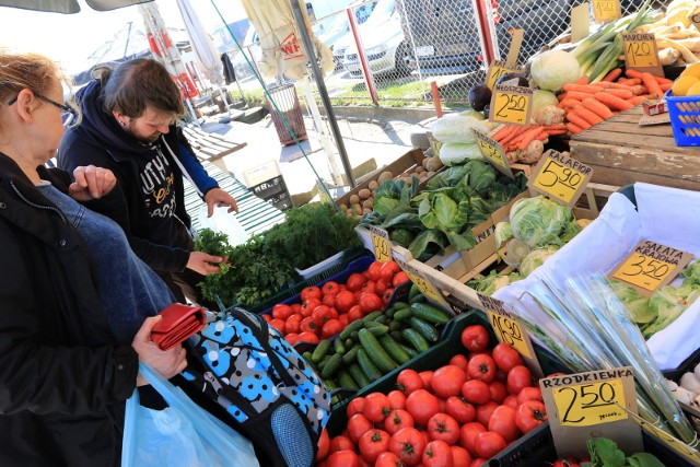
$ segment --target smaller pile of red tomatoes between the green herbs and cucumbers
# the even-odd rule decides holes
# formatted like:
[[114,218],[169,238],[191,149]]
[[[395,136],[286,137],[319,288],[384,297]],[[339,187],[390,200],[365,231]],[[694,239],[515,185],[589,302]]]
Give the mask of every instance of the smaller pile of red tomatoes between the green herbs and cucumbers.
[[327,281],[304,288],[301,303],[278,303],[271,314],[262,316],[292,346],[318,343],[355,319],[384,310],[394,289],[408,281],[395,261],[374,261],[365,271],[351,273],[346,283]]

